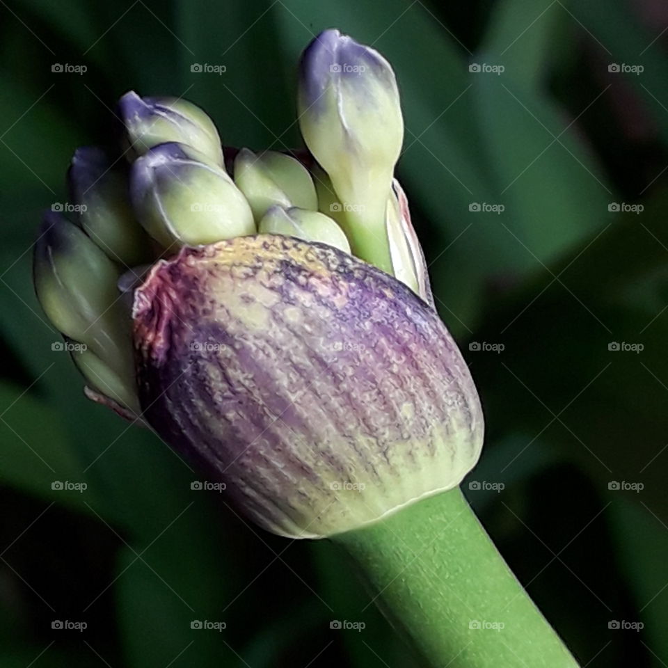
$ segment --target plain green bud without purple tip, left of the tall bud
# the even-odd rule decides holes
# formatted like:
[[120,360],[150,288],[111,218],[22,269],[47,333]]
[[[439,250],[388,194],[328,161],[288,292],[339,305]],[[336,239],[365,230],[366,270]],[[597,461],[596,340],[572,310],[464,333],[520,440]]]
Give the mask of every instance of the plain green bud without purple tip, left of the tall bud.
[[308,169],[285,153],[265,151],[256,155],[242,148],[234,159],[234,182],[246,196],[258,223],[274,205],[317,209]]

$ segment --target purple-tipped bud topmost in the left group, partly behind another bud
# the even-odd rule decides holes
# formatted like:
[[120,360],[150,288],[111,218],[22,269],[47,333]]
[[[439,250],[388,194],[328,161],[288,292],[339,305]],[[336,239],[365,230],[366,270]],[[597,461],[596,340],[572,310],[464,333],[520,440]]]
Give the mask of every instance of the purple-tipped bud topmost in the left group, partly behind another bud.
[[133,157],[168,141],[192,146],[207,161],[223,166],[223,147],[214,122],[179,97],[139,97],[134,90],[118,102]]

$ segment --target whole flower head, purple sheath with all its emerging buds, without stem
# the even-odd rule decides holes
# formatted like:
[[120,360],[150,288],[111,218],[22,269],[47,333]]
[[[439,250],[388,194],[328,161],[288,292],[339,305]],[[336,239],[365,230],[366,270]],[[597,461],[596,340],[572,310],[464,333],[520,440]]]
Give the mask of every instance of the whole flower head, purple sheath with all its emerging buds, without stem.
[[389,63],[325,31],[298,108],[307,150],[255,153],[190,102],[127,93],[120,150],[74,154],[77,220],[45,216],[34,269],[88,397],[267,529],[317,537],[459,484],[482,414],[394,177]]

